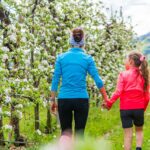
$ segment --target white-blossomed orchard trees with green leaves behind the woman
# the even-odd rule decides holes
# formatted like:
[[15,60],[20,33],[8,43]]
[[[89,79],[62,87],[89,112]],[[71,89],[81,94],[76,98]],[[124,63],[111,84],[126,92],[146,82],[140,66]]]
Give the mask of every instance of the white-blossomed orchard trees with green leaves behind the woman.
[[[100,1],[5,0],[0,1],[0,21],[2,140],[6,131],[8,140],[22,140],[19,120],[25,117],[24,109],[29,107],[34,108],[35,130],[38,133],[43,130],[39,115],[42,108],[47,109],[45,131],[42,132],[53,132],[49,86],[56,55],[70,47],[68,39],[72,28],[84,28],[85,50],[95,58],[109,94],[118,71],[123,68],[125,54],[133,47],[132,27],[124,22],[122,11],[111,12],[108,18]],[[91,99],[96,99],[98,104],[98,91],[91,78],[87,80]],[[3,118],[7,120],[5,124]]]

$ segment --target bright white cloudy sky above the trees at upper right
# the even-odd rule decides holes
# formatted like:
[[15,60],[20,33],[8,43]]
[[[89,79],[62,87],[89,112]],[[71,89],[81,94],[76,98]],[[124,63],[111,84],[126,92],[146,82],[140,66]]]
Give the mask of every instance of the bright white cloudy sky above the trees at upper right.
[[[95,0],[97,1],[97,0]],[[132,18],[134,31],[138,35],[150,32],[150,0],[101,0],[105,7],[118,10],[123,7],[124,16]]]

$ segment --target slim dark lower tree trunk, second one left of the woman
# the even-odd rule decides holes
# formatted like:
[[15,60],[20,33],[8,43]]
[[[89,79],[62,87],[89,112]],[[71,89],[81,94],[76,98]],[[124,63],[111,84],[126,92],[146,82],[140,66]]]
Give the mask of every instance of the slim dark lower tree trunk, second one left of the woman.
[[40,128],[39,103],[37,103],[34,108],[34,115],[35,115],[35,130],[38,130]]

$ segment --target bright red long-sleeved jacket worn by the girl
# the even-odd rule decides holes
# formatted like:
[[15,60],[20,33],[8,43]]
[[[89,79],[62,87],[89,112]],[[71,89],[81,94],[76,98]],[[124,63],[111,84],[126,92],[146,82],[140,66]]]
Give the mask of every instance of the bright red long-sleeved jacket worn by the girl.
[[119,74],[116,91],[113,93],[109,107],[120,98],[120,109],[146,109],[149,91],[144,91],[144,78],[138,68],[133,67]]

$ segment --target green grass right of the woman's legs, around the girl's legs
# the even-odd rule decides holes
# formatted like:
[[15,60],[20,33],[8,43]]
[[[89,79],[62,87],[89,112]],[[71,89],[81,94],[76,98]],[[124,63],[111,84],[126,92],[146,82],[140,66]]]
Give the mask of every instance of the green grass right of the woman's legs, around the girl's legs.
[[[95,138],[103,137],[112,143],[112,150],[123,149],[123,130],[121,127],[118,104],[109,112],[91,108],[89,122],[87,123],[86,135]],[[133,150],[135,149],[135,133],[133,134]],[[150,106],[145,112],[144,125],[144,150],[150,150]],[[106,149],[107,150],[107,149]]]

